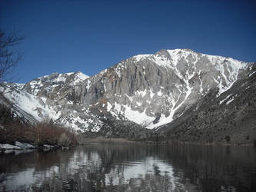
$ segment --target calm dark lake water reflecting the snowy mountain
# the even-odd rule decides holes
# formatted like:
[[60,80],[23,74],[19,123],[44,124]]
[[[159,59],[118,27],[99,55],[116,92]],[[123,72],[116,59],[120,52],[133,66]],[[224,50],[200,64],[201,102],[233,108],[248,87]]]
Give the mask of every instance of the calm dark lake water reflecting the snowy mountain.
[[0,191],[256,191],[256,148],[91,144],[0,154]]

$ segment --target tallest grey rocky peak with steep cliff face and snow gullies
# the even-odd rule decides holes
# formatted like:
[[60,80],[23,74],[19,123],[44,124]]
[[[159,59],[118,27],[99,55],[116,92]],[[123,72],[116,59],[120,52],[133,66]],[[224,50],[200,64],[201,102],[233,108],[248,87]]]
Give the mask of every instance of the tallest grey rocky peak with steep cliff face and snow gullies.
[[181,116],[209,91],[218,89],[218,97],[246,68],[247,63],[231,58],[162,50],[101,71],[77,96],[81,104],[96,104],[115,118],[154,128]]

